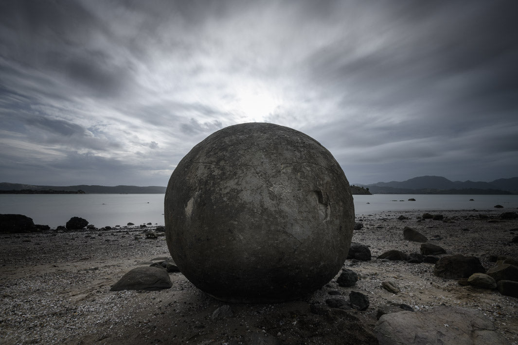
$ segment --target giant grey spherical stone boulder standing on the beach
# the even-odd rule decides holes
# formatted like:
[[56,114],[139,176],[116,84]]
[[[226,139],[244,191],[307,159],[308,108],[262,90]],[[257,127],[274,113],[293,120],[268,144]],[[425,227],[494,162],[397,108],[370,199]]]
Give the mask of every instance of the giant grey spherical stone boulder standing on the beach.
[[165,194],[166,239],[180,271],[228,302],[280,302],[338,274],[351,244],[346,176],[320,143],[249,123],[197,144]]

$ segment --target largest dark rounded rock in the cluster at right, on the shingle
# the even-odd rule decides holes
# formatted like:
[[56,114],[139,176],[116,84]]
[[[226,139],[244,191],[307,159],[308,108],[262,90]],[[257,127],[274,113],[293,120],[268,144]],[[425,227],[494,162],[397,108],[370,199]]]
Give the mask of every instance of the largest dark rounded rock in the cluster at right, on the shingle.
[[484,273],[485,269],[476,257],[455,254],[437,261],[434,275],[447,279],[469,278],[473,273]]

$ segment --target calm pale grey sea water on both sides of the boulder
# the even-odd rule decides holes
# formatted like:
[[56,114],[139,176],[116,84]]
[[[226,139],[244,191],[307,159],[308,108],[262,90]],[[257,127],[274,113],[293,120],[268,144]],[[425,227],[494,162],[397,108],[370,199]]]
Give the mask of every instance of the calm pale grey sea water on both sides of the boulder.
[[[415,201],[408,201],[410,198]],[[483,210],[495,209],[493,206],[497,204],[516,209],[518,195],[354,196],[357,215],[382,211]],[[34,223],[48,224],[51,228],[65,225],[73,216],[84,218],[98,228],[124,226],[128,222],[164,225],[164,194],[0,194],[0,214],[6,213],[26,215]]]

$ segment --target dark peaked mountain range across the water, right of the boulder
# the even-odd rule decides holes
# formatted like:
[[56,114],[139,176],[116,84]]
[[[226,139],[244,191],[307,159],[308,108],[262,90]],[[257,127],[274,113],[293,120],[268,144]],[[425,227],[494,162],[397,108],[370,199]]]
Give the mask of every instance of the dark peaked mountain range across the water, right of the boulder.
[[493,182],[461,182],[442,176],[419,176],[402,182],[363,186],[375,194],[518,194],[518,177],[500,178]]

